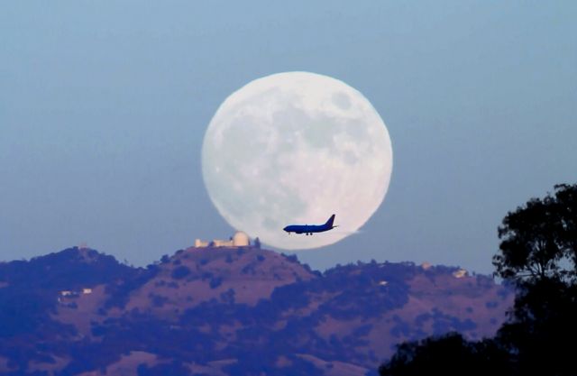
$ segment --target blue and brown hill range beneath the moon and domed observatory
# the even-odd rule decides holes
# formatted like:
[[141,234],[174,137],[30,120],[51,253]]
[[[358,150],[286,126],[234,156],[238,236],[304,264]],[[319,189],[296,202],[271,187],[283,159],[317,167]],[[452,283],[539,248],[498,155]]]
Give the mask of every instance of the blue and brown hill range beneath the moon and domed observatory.
[[444,266],[189,248],[147,268],[72,248],[0,263],[2,375],[364,375],[395,344],[494,335],[513,293]]

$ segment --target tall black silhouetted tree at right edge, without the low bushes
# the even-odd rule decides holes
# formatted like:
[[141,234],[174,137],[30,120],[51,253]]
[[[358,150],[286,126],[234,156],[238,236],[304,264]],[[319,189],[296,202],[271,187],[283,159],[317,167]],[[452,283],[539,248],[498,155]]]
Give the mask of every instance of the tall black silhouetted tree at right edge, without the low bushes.
[[499,238],[496,274],[517,285],[517,298],[497,339],[521,374],[577,374],[568,345],[577,338],[577,185],[508,213]]

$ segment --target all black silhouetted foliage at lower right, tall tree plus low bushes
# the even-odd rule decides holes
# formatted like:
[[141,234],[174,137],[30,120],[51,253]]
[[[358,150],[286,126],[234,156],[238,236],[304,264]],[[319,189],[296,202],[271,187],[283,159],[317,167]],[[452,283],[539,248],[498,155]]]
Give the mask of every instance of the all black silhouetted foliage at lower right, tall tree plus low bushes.
[[508,323],[481,342],[453,334],[401,344],[380,375],[577,375],[577,185],[530,199],[498,233],[495,274],[517,286]]

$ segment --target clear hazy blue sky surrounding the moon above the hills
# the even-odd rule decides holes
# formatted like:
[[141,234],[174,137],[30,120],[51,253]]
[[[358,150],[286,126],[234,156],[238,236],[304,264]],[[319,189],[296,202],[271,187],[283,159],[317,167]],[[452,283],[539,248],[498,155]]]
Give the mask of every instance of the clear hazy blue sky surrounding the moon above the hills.
[[4,1],[0,260],[86,242],[144,265],[233,229],[200,150],[226,96],[342,79],[389,128],[389,193],[313,268],[492,271],[508,210],[577,180],[577,2]]

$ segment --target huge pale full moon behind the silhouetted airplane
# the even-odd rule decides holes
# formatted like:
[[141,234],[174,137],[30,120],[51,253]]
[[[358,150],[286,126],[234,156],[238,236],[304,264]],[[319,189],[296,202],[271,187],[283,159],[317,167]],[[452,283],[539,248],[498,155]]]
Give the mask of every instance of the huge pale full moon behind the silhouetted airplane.
[[[343,81],[285,72],[228,96],[206,130],[202,172],[224,219],[262,243],[302,250],[355,233],[389,188],[389,132],[371,102]],[[339,227],[307,236],[286,225]]]

